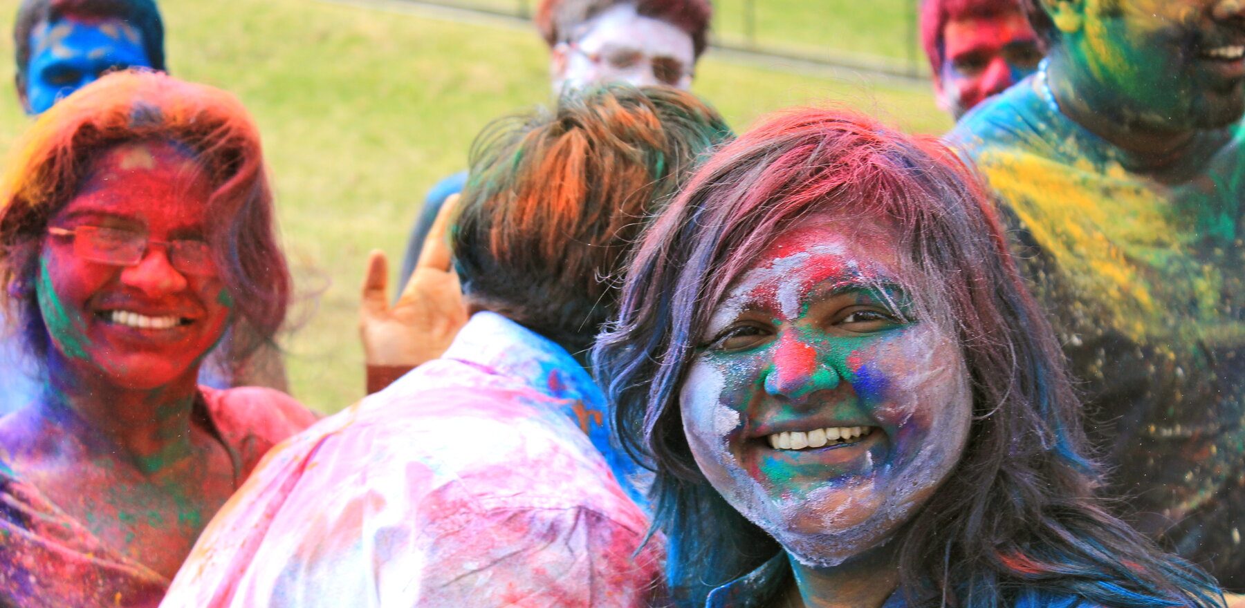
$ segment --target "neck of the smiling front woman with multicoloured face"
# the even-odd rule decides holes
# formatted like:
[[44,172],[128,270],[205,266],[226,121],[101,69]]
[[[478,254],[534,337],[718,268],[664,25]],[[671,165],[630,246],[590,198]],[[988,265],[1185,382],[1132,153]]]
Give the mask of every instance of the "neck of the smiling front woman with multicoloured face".
[[796,588],[788,593],[793,607],[880,608],[899,588],[895,543],[876,547],[833,568],[814,568],[787,555]]

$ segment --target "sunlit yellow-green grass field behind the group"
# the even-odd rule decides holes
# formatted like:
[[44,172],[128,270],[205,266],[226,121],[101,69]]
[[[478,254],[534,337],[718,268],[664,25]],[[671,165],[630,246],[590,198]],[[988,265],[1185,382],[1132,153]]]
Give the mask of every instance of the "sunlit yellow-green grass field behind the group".
[[[742,0],[723,4],[731,1]],[[0,0],[5,32],[16,5]],[[293,393],[336,412],[362,395],[355,308],[367,251],[385,250],[396,266],[425,191],[464,168],[472,137],[492,118],[548,99],[545,48],[530,31],[316,0],[161,5],[173,73],[235,92],[264,132],[281,233],[303,296],[296,327],[284,341]],[[773,0],[773,10],[779,6],[798,5]],[[870,31],[830,12],[817,17],[825,31]],[[873,26],[901,26],[891,21],[879,11]],[[774,24],[817,29],[809,15],[787,14]],[[10,36],[0,40],[0,52],[11,57]],[[11,62],[5,65],[11,82]],[[697,71],[696,92],[741,131],[776,108],[828,102],[910,131],[950,126],[921,87],[772,67],[710,55]],[[7,147],[27,118],[15,97],[0,97],[0,143]]]

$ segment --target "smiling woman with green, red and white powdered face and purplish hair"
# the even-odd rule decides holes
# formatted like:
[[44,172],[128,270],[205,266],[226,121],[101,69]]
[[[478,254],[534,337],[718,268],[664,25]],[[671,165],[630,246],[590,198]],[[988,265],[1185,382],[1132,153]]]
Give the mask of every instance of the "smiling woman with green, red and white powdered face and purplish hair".
[[1053,332],[940,144],[763,121],[656,219],[594,356],[682,606],[1216,606],[1092,497]]

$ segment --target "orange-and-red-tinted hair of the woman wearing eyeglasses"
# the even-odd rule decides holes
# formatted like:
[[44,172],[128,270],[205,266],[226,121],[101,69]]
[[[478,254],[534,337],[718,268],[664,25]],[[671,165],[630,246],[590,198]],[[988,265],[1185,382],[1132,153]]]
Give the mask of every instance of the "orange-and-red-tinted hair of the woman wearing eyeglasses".
[[39,117],[0,178],[0,281],[36,352],[47,334],[34,277],[49,220],[108,148],[167,140],[189,149],[212,185],[207,240],[229,295],[232,358],[269,341],[285,320],[290,275],[278,246],[259,129],[237,97],[147,70],[116,72]]

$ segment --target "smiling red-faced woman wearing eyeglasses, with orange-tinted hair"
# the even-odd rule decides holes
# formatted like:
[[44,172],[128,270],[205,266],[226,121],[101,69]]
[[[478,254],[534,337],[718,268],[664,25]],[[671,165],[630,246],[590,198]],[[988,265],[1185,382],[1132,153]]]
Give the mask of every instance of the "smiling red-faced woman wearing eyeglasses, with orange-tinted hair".
[[314,421],[195,383],[227,331],[255,348],[285,316],[259,134],[228,93],[120,72],[39,119],[0,196],[6,315],[45,378],[0,419],[0,606],[154,606],[268,448]]

